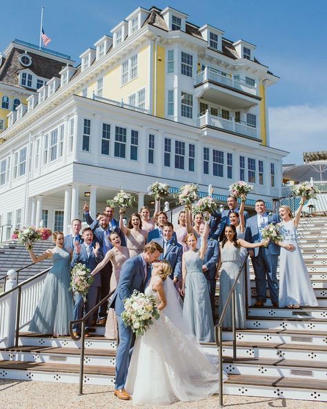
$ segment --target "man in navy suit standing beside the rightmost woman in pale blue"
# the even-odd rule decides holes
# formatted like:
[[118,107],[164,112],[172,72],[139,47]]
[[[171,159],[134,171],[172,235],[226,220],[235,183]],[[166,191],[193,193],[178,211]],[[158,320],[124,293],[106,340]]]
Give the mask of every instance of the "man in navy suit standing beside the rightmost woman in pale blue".
[[[251,243],[262,240],[261,231],[270,223],[279,222],[277,214],[268,215],[264,200],[255,202],[257,214],[250,217],[246,222],[245,240]],[[271,302],[278,307],[279,285],[277,280],[277,263],[280,252],[279,245],[270,240],[268,247],[257,247],[249,249],[253,269],[255,270],[255,288],[257,291],[257,302],[255,307],[262,307],[266,303],[266,287],[270,292]]]

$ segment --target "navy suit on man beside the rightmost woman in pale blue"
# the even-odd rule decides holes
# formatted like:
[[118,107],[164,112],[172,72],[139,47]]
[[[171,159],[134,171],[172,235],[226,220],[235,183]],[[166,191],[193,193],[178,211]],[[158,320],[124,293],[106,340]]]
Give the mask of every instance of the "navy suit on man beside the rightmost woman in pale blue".
[[[274,225],[279,222],[277,214],[268,215],[268,224]],[[267,225],[267,223],[265,224]],[[250,243],[260,242],[258,216],[250,217],[246,221],[245,240]],[[266,302],[266,283],[270,292],[272,303],[278,303],[279,285],[277,280],[277,264],[280,252],[279,245],[270,240],[268,247],[257,247],[253,249],[255,256],[251,258],[255,270],[255,288],[257,301]]]

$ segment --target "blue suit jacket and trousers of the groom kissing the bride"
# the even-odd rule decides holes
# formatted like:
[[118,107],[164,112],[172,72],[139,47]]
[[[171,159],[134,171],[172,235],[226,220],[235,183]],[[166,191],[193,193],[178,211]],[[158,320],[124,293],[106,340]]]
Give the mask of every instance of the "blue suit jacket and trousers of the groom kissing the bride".
[[123,300],[129,298],[135,289],[143,292],[150,278],[149,274],[150,270],[148,267],[144,267],[144,259],[141,254],[126,260],[121,267],[117,289],[110,301],[109,307],[115,308],[119,329],[119,344],[116,354],[116,389],[125,386],[132,344],[132,330],[130,327],[126,327],[121,320],[121,313],[124,310]]

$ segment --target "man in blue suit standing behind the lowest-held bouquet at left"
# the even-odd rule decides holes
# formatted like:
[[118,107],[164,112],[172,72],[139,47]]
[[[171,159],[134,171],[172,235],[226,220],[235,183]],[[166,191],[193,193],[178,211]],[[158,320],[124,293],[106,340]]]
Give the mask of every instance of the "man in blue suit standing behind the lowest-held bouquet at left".
[[[77,263],[85,264],[91,272],[97,267],[98,263],[101,263],[103,260],[103,252],[99,245],[99,242],[93,242],[93,232],[90,227],[83,229],[83,242],[79,244],[75,242],[74,254],[72,257],[72,267]],[[87,301],[85,305],[86,314],[92,310],[99,299],[99,292],[101,289],[101,276],[100,274],[95,274],[94,281],[90,288],[88,289]],[[82,317],[83,314],[83,297],[81,294],[75,294],[75,303],[74,303],[74,320],[78,320]],[[94,318],[91,316],[86,323],[86,336],[88,336],[88,327],[94,324]],[[79,336],[80,325],[75,325],[73,331],[75,336]]]

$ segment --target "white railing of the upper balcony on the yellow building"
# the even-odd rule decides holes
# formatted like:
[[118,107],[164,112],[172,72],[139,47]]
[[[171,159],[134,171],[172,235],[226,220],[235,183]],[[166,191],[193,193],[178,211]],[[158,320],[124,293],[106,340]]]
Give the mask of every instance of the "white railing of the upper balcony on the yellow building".
[[255,85],[252,86],[251,84],[248,84],[245,79],[232,77],[232,75],[224,74],[222,72],[219,73],[218,71],[212,70],[208,67],[204,68],[201,73],[197,74],[195,84],[198,85],[205,81],[217,82],[218,84],[223,84],[239,91],[243,91],[244,93],[257,95],[257,87]]

